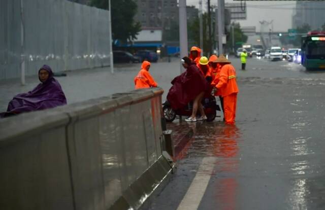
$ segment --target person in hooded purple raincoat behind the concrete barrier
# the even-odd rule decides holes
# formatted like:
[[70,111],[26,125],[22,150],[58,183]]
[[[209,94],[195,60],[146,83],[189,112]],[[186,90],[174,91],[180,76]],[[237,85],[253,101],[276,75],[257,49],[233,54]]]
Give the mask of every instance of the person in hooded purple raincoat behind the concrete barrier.
[[59,82],[54,79],[50,66],[43,65],[39,70],[41,83],[32,91],[16,95],[8,104],[7,112],[1,117],[7,117],[24,112],[45,110],[67,104]]

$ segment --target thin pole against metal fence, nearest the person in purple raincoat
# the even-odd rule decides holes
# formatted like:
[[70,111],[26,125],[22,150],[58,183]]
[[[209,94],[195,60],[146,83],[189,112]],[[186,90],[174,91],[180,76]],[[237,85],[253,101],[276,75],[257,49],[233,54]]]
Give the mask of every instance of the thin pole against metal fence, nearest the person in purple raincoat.
[[24,5],[23,0],[20,0],[20,83],[25,85],[25,27],[24,27]]

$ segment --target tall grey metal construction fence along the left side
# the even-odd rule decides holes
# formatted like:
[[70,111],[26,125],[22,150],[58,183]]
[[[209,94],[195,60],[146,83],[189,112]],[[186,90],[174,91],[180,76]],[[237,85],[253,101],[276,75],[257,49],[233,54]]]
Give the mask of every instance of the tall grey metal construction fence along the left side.
[[0,1],[0,80],[109,65],[108,11],[66,0]]

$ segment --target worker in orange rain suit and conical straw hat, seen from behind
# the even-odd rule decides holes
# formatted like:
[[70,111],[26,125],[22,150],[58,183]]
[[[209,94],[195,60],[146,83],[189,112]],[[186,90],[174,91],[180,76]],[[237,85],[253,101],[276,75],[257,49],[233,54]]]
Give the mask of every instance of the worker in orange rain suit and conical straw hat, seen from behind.
[[237,93],[239,92],[236,82],[236,70],[231,62],[221,55],[217,60],[220,64],[220,77],[215,85],[216,91],[221,91],[223,98],[223,113],[226,124],[235,124]]

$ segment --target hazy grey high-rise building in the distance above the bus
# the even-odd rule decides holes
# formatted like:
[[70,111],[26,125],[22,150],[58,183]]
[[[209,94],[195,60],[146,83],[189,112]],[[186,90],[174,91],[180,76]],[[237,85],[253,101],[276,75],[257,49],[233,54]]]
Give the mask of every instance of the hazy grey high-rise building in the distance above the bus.
[[310,25],[312,30],[320,29],[325,24],[324,1],[297,1],[293,16],[293,28]]

